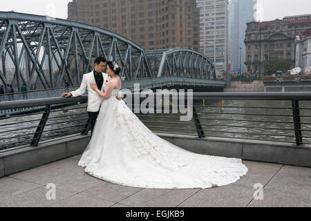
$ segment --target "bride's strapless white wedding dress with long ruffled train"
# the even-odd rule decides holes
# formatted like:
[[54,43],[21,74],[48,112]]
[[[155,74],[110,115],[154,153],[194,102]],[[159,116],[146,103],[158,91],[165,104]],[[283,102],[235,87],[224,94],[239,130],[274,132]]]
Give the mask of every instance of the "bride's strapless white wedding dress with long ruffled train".
[[152,189],[223,186],[248,171],[240,159],[185,151],[152,133],[115,96],[104,100],[79,166],[99,179]]

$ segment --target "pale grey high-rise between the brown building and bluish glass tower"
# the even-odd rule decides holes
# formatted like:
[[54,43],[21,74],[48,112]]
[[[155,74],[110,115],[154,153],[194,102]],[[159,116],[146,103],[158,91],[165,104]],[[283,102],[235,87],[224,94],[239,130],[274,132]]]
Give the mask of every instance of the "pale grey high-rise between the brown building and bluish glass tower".
[[197,0],[200,9],[200,52],[216,66],[216,77],[227,73],[227,0]]

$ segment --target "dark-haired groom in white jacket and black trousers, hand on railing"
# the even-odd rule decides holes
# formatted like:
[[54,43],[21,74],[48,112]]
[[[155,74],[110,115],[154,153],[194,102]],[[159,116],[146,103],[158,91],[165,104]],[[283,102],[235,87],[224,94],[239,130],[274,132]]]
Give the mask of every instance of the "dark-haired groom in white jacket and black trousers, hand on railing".
[[[82,84],[79,89],[70,92],[63,93],[62,97],[78,97],[85,93],[88,88],[88,120],[91,124],[91,135],[95,127],[95,122],[98,114],[100,113],[100,106],[104,102],[104,98],[100,97],[95,90],[92,90],[90,84],[96,84],[98,89],[104,93],[106,88],[105,84],[110,80],[108,74],[103,73],[106,69],[106,59],[104,57],[97,57],[95,59],[95,68],[91,73],[83,75]],[[117,99],[120,100],[119,97]]]

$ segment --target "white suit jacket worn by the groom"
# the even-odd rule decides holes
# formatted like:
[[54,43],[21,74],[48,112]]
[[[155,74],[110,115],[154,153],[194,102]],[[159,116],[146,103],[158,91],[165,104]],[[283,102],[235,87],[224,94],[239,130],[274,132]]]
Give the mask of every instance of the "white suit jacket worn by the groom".
[[[106,88],[106,81],[109,81],[111,77],[109,77],[106,73],[102,73],[102,76],[104,77],[102,92],[104,92],[104,88]],[[97,112],[100,111],[100,106],[102,105],[102,102],[104,102],[104,98],[100,97],[100,95],[98,95],[96,91],[91,88],[91,83],[96,84],[93,71],[83,75],[80,88],[70,93],[73,97],[79,97],[83,95],[86,92],[86,88],[88,88],[88,112]]]

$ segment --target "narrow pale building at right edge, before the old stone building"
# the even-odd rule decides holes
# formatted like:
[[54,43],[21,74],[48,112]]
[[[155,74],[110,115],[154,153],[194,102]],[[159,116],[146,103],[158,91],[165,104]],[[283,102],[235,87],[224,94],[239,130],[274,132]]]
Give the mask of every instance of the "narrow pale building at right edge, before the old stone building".
[[311,28],[296,37],[296,67],[303,71],[311,66]]

